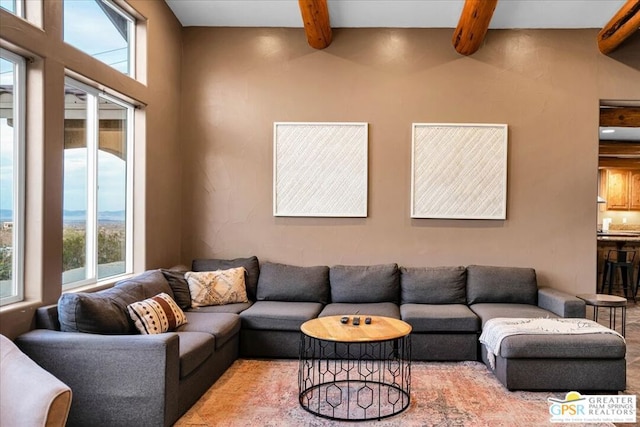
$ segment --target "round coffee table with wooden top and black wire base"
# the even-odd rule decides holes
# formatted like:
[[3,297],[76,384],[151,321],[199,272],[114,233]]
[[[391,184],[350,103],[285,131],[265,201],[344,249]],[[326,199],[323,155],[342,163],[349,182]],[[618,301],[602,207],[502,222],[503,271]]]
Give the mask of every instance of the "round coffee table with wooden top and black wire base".
[[312,414],[379,420],[409,406],[411,325],[389,317],[357,317],[359,325],[353,315],[327,316],[300,328],[299,401]]

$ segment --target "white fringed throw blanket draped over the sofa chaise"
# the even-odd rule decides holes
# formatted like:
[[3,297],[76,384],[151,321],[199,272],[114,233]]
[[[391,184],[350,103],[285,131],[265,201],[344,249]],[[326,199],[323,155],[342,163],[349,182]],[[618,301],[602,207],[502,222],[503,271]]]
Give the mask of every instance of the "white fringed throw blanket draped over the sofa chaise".
[[616,334],[593,320],[578,318],[509,318],[496,317],[487,320],[480,334],[480,342],[487,348],[487,359],[491,368],[495,369],[496,355],[500,353],[502,340],[511,335],[546,335],[546,334]]

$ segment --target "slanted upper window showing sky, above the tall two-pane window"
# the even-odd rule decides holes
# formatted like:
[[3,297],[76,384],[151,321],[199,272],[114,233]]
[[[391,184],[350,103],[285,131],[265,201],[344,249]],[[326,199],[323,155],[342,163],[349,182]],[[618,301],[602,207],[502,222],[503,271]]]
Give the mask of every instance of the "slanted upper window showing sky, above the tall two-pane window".
[[132,77],[134,26],[109,0],[64,0],[64,41]]

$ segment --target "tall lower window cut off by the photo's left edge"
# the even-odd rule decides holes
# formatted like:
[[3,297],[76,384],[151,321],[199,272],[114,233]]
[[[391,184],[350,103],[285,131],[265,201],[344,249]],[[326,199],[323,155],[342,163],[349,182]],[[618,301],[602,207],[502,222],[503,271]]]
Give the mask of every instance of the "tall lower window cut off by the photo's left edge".
[[24,294],[25,61],[0,49],[0,305]]

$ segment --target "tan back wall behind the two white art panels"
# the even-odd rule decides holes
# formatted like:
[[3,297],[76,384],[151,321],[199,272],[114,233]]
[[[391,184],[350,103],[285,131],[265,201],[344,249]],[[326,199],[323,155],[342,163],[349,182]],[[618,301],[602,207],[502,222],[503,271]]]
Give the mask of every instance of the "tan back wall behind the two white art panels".
[[[596,280],[600,99],[640,99],[640,40],[597,30],[489,32],[463,57],[450,29],[183,31],[182,262],[530,266],[542,285]],[[635,55],[635,56],[634,56]],[[273,122],[369,123],[364,219],[272,215]],[[411,219],[412,122],[509,125],[506,221]]]

